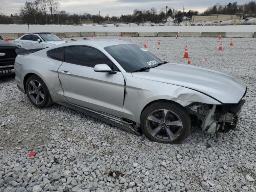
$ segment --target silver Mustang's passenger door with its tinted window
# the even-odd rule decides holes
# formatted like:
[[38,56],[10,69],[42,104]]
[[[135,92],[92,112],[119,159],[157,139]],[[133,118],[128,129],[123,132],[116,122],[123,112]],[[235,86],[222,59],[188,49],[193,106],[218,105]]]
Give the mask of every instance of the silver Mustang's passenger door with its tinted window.
[[65,60],[58,69],[64,96],[73,104],[122,117],[124,103],[124,77],[95,72],[96,64],[116,66],[99,50],[88,46],[65,48]]

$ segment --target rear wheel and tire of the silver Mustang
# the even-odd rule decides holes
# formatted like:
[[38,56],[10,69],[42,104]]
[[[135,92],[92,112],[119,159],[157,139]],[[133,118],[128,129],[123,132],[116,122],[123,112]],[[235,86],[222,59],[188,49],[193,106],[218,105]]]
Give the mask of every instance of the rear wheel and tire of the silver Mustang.
[[37,75],[32,75],[27,79],[26,93],[30,102],[37,108],[46,108],[52,105],[50,92],[44,81]]

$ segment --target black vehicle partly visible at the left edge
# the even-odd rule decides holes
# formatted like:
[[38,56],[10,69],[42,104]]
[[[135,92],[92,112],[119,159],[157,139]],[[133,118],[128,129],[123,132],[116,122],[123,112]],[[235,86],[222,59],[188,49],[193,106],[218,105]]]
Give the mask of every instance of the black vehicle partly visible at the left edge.
[[20,47],[0,40],[0,76],[14,74],[15,50]]

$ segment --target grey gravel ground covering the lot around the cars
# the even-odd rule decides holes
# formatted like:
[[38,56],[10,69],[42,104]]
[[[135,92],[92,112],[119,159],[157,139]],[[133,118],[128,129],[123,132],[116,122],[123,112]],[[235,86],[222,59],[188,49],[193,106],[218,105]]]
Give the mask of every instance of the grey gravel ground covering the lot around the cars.
[[[112,38],[118,37],[95,37]],[[74,38],[82,39],[82,38]],[[169,62],[230,74],[248,87],[236,130],[218,142],[192,128],[179,145],[151,142],[100,120],[54,105],[37,109],[16,87],[0,79],[0,192],[89,191],[256,191],[255,38],[122,37]],[[70,38],[66,38],[70,40]],[[207,61],[205,61],[207,59]],[[28,157],[29,152],[37,152]],[[209,186],[210,180],[214,186]]]

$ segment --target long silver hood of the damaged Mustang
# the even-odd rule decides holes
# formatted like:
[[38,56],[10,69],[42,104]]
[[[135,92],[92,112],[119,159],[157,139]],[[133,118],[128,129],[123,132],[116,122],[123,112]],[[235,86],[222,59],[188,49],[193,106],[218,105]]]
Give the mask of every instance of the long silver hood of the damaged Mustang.
[[246,86],[235,78],[202,67],[167,63],[132,76],[197,90],[222,103],[238,103]]

